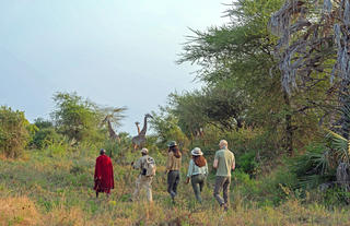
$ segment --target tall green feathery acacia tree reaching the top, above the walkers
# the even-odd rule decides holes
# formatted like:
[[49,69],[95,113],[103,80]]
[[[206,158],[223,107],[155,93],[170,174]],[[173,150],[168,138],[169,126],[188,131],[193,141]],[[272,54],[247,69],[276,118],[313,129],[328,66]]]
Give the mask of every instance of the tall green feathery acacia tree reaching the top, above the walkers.
[[241,115],[245,121],[273,133],[282,130],[284,147],[292,154],[296,129],[296,117],[292,116],[304,114],[304,108],[281,88],[280,71],[275,67],[277,38],[267,24],[280,4],[281,0],[238,0],[226,11],[230,24],[192,31],[179,62],[199,64],[198,79],[208,86],[231,84],[244,94],[248,108]]

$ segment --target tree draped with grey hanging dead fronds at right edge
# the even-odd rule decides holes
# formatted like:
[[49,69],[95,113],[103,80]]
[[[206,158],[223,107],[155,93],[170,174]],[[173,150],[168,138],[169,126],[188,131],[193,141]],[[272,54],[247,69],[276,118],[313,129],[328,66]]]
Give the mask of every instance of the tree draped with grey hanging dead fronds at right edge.
[[[280,59],[281,84],[288,94],[296,88],[329,81],[326,115],[343,112],[350,85],[350,3],[348,0],[287,0],[270,20],[279,36],[276,56]],[[336,122],[349,138],[347,117]]]

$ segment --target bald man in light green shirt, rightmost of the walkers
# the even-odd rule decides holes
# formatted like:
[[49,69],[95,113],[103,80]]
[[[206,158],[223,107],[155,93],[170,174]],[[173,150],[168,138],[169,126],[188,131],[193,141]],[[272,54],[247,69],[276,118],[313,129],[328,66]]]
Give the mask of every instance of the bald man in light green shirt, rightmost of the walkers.
[[[229,210],[229,190],[231,183],[231,170],[235,168],[234,154],[228,147],[228,141],[221,140],[220,150],[217,151],[213,168],[217,169],[213,195],[225,211]],[[223,198],[220,192],[223,191]]]

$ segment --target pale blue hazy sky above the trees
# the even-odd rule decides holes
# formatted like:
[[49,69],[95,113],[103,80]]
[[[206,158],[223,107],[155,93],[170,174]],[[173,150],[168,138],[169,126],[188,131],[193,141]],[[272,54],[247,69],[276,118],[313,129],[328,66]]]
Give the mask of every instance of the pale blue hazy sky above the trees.
[[[0,0],[0,105],[49,119],[52,95],[126,106],[118,132],[172,92],[200,87],[176,64],[190,28],[222,25],[228,0]],[[142,127],[142,124],[141,124]]]

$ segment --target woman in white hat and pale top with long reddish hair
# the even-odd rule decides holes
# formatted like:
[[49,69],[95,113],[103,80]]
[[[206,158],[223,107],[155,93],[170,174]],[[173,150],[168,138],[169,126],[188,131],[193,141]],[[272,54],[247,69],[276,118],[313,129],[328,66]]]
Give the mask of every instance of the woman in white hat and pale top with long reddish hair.
[[195,147],[190,153],[192,158],[189,160],[186,183],[191,182],[196,199],[201,203],[200,193],[208,176],[208,164],[199,147]]

